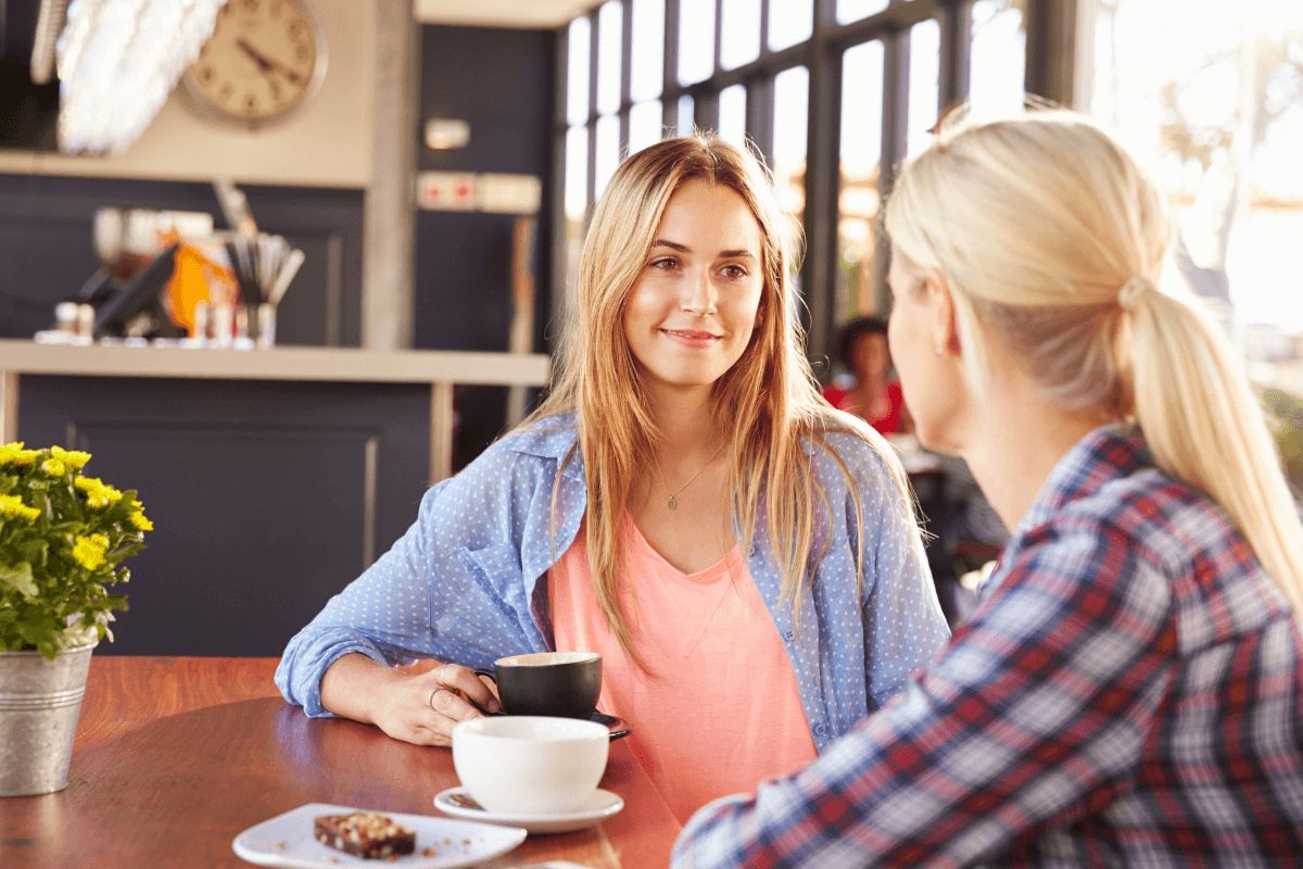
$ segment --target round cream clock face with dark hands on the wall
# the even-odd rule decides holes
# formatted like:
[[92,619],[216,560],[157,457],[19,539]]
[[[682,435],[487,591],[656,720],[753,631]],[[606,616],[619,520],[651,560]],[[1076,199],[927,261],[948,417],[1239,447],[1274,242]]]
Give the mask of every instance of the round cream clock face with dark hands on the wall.
[[259,126],[306,100],[324,70],[326,46],[301,0],[229,0],[184,81],[210,112]]

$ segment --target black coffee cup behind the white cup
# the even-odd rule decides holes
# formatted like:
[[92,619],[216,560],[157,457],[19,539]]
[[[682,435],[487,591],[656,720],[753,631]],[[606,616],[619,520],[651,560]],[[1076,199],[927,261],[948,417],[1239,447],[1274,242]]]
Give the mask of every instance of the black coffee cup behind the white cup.
[[476,670],[498,683],[508,715],[592,718],[602,691],[602,655],[595,651],[538,651],[508,655],[493,670]]

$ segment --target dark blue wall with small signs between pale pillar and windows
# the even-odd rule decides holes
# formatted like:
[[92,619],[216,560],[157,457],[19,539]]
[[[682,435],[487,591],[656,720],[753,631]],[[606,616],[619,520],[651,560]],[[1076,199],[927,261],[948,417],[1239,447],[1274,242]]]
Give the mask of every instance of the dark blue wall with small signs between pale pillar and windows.
[[[443,172],[533,175],[551,189],[552,79],[556,34],[551,30],[421,27],[421,125],[430,117],[470,124],[470,145],[433,151],[418,143],[418,168]],[[418,135],[420,135],[418,129]],[[534,349],[546,350],[549,270],[537,251],[550,250],[542,208],[534,240]],[[418,211],[416,229],[416,347],[440,350],[507,349],[511,328],[511,253],[515,216],[466,211]],[[507,391],[459,387],[456,466],[478,456],[502,431]]]

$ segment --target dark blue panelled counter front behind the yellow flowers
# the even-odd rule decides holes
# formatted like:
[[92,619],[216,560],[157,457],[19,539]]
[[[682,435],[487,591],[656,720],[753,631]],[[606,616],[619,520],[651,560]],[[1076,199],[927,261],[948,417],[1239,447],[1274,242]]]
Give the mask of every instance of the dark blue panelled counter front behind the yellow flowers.
[[86,474],[137,490],[154,522],[96,654],[279,655],[401,537],[429,479],[423,384],[25,375],[20,390],[22,440],[86,449]]

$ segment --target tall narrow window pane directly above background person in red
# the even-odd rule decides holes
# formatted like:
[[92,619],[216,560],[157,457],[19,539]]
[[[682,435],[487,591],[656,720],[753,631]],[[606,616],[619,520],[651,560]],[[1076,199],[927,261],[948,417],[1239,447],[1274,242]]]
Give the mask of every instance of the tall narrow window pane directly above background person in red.
[[882,162],[882,43],[842,56],[842,146],[837,221],[837,322],[877,307],[878,180]]

